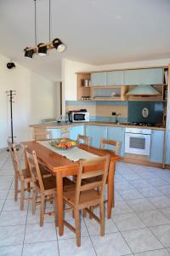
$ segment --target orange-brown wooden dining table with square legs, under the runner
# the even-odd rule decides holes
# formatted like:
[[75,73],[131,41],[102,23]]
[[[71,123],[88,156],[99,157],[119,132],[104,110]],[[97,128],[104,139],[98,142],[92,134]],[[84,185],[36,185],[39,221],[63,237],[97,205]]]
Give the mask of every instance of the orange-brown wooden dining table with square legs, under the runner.
[[[38,142],[24,142],[24,146],[35,150],[37,153],[37,160],[46,166],[49,172],[52,172],[56,177],[57,186],[57,201],[58,201],[58,225],[59,225],[59,236],[63,236],[64,233],[64,208],[63,208],[63,177],[77,175],[79,170],[79,161],[72,161],[67,159],[61,154],[55,153],[53,150],[42,146]],[[109,155],[110,166],[108,172],[108,201],[107,201],[107,218],[111,218],[111,209],[114,207],[114,176],[116,161],[121,160],[121,157],[114,154],[111,150],[93,148],[84,144],[79,144],[78,148],[88,151],[89,153],[96,154],[99,156]],[[68,149],[69,150],[69,149]],[[26,157],[26,166],[28,166]]]

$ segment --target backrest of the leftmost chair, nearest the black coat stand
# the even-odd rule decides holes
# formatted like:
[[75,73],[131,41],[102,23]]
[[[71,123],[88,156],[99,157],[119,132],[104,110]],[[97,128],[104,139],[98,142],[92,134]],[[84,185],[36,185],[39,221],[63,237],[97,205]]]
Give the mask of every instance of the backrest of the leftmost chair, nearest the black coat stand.
[[20,158],[17,154],[16,146],[10,141],[8,141],[8,150],[10,152],[11,160],[13,162],[15,175],[18,175],[20,177],[20,180],[24,180],[22,167],[20,165]]

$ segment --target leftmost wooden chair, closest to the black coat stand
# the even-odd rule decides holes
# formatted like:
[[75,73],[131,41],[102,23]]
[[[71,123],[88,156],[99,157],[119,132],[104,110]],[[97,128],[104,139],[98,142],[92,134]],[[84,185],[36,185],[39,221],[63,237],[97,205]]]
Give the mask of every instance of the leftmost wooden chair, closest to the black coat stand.
[[[20,165],[20,158],[17,154],[17,150],[14,144],[8,141],[8,149],[11,154],[11,159],[14,166],[14,201],[18,200],[18,194],[20,193],[20,210],[24,210],[24,201],[31,201],[31,197],[25,198],[25,191],[30,192],[31,172],[28,168],[22,169]],[[20,179],[20,190],[18,188]],[[27,189],[25,189],[27,186]]]

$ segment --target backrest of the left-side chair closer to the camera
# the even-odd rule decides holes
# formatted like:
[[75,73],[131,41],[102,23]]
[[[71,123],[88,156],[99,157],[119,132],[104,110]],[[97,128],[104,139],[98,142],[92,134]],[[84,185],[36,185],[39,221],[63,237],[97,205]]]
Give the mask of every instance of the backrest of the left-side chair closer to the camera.
[[44,186],[42,181],[42,174],[40,172],[39,164],[37,161],[36,151],[31,150],[30,148],[26,148],[26,159],[28,161],[33,183],[41,190],[41,192],[43,192]]

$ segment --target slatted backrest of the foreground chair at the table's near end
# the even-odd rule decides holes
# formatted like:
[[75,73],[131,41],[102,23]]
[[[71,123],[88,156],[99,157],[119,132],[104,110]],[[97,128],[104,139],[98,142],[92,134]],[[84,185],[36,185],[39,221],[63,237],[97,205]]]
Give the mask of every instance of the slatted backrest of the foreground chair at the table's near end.
[[[104,201],[105,183],[109,168],[109,156],[95,157],[91,160],[80,161],[79,172],[77,175],[75,205],[80,203],[80,195],[82,191],[90,189],[99,189],[99,200]],[[99,180],[86,179],[89,177],[99,177]],[[90,201],[90,198],[89,198]]]

